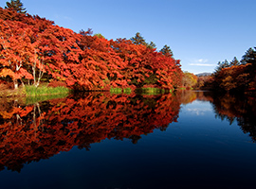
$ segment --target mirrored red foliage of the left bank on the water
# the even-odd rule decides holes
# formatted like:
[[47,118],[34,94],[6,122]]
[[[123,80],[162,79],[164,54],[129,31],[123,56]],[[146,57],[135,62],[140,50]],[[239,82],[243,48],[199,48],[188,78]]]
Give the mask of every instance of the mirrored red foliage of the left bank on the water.
[[97,94],[14,107],[0,123],[0,164],[2,169],[19,171],[23,163],[73,146],[88,149],[106,138],[137,143],[140,135],[176,121],[179,105],[172,94],[147,98]]

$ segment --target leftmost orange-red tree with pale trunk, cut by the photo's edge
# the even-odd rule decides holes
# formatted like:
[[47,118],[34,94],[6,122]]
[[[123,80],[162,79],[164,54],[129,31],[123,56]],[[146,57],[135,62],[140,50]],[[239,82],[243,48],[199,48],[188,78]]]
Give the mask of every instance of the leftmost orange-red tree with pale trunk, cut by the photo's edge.
[[32,49],[28,38],[32,31],[20,22],[0,20],[0,24],[0,67],[3,68],[1,76],[12,77],[14,88],[17,89],[18,79],[33,78],[24,69]]

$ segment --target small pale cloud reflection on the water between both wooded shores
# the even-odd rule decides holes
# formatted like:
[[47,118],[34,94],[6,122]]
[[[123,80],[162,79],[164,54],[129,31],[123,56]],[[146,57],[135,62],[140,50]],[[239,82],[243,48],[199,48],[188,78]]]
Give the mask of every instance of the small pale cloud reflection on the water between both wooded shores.
[[192,115],[205,115],[212,112],[212,107],[209,102],[195,100],[192,104],[182,105],[181,111]]

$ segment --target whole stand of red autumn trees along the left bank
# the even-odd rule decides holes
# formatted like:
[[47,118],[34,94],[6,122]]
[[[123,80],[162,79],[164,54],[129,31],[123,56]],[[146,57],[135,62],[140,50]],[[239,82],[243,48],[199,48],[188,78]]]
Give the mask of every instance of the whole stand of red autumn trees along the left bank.
[[182,75],[169,46],[157,52],[139,33],[130,40],[107,40],[91,29],[76,33],[37,15],[0,8],[1,86],[174,90]]

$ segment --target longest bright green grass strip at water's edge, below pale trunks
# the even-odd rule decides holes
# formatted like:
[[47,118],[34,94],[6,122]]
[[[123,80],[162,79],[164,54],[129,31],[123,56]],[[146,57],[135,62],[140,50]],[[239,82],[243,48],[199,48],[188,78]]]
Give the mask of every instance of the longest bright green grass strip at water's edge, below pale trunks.
[[35,87],[33,85],[26,85],[25,91],[27,96],[36,96],[36,95],[46,95],[46,94],[68,94],[69,89],[65,87],[47,87],[39,86]]

